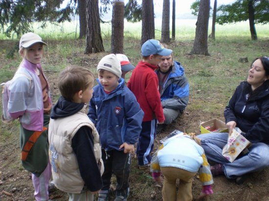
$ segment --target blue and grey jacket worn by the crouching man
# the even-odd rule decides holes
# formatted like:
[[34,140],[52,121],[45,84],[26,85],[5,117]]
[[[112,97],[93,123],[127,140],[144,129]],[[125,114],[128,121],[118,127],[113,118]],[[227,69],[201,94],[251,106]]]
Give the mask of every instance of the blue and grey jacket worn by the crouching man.
[[[158,74],[159,72],[156,71]],[[184,110],[189,101],[189,83],[184,73],[183,66],[174,61],[172,71],[163,84],[160,92],[163,108]]]

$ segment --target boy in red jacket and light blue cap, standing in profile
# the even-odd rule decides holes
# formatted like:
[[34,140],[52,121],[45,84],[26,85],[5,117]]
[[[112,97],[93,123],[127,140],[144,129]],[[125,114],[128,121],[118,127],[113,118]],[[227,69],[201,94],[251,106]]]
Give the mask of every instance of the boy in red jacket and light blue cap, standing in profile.
[[157,123],[162,124],[164,121],[158,92],[158,78],[154,70],[160,58],[171,53],[172,50],[164,48],[158,40],[147,40],[141,47],[142,60],[134,68],[127,84],[145,113],[136,148],[140,169],[150,166],[152,158],[150,154],[154,146]]

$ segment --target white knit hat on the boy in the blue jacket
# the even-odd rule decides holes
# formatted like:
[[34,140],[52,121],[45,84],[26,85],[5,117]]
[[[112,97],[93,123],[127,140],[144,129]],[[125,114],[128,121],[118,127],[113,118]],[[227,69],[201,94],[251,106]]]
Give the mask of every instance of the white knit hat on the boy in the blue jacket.
[[99,69],[110,71],[113,74],[115,74],[118,78],[121,77],[120,61],[114,54],[110,54],[103,57],[97,65],[97,71]]

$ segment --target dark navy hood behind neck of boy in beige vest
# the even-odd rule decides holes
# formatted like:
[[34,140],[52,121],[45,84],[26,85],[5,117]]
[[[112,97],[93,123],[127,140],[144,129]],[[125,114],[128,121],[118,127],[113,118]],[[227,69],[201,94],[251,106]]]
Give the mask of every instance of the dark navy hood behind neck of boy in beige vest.
[[64,118],[71,116],[84,107],[84,103],[76,103],[67,101],[65,98],[60,97],[57,103],[53,106],[51,112],[51,119]]

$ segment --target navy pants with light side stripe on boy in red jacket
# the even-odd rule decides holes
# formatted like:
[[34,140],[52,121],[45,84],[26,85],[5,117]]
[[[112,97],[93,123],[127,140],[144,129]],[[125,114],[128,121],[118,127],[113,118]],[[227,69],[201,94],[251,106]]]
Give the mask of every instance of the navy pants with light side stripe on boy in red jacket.
[[136,148],[138,165],[146,165],[151,162],[151,152],[156,138],[157,119],[152,121],[143,121],[142,130]]

